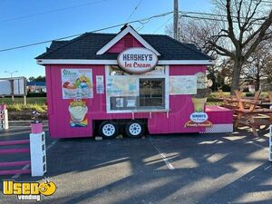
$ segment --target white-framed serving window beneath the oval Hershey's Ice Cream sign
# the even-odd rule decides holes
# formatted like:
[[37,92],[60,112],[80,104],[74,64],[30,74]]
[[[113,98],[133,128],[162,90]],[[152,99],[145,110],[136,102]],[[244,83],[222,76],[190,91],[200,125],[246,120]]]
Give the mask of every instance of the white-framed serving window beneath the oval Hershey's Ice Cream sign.
[[108,112],[168,109],[168,73],[165,66],[157,66],[143,74],[126,73],[116,65],[106,70]]

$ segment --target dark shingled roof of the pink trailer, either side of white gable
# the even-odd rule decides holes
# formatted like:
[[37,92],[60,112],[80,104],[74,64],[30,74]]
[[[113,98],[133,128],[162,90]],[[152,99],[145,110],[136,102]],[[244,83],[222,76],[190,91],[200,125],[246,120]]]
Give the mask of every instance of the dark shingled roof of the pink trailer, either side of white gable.
[[[47,51],[35,59],[116,60],[118,53],[96,54],[116,34],[85,33],[70,41],[53,41]],[[160,53],[159,60],[213,60],[194,44],[183,44],[164,34],[141,34]]]

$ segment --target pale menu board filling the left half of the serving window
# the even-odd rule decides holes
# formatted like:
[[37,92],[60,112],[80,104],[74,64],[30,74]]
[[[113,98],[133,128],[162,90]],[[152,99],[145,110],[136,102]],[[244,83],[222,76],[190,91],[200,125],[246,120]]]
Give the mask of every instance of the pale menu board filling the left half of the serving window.
[[108,96],[136,96],[137,79],[135,77],[112,77],[107,79]]

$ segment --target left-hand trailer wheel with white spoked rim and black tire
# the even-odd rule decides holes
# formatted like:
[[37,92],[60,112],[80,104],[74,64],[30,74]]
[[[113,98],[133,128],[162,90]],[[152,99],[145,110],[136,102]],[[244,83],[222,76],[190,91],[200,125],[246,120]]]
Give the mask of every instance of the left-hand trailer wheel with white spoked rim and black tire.
[[99,126],[99,134],[105,139],[113,139],[118,135],[119,126],[112,121],[103,121]]

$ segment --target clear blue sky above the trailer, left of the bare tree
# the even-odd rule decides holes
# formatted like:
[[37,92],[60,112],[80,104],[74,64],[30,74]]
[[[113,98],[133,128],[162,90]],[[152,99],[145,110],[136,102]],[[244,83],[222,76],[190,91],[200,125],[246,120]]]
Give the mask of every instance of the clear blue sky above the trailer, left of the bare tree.
[[[211,12],[212,5],[210,0],[180,0],[179,9]],[[0,50],[92,32],[172,10],[173,0],[0,0]],[[140,34],[165,34],[165,26],[172,23],[170,16],[151,19],[143,27],[139,23],[131,25]],[[0,78],[10,77],[15,71],[13,76],[44,75],[44,66],[36,64],[34,57],[49,46],[47,43],[0,52]]]

